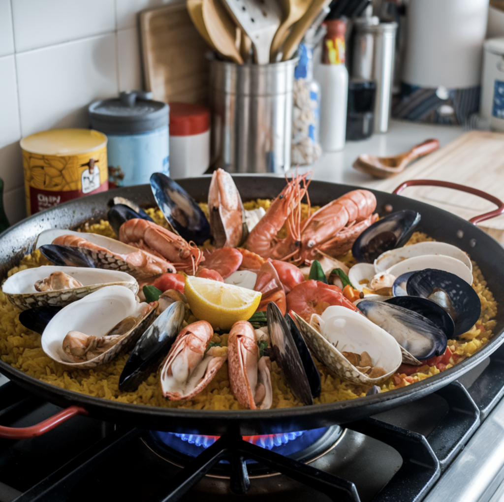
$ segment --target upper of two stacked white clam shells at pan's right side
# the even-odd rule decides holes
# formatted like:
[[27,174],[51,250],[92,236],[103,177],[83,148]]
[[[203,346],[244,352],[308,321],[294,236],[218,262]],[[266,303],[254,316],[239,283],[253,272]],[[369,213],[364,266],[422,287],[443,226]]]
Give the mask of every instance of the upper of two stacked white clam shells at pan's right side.
[[[472,272],[472,263],[469,257],[457,246],[446,242],[417,242],[409,246],[398,247],[382,253],[374,260],[374,269],[376,272],[384,272],[390,269],[396,263],[423,255],[444,255],[450,256],[461,261],[470,272]],[[437,267],[426,267],[437,268]]]

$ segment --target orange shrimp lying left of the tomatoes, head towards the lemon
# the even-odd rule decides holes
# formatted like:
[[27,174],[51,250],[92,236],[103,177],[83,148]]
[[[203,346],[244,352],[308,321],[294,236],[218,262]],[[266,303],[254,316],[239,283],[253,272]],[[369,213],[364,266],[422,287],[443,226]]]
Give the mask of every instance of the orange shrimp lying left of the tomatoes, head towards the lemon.
[[168,260],[177,270],[193,275],[204,260],[203,252],[194,242],[187,242],[152,221],[134,218],[119,228],[119,240]]

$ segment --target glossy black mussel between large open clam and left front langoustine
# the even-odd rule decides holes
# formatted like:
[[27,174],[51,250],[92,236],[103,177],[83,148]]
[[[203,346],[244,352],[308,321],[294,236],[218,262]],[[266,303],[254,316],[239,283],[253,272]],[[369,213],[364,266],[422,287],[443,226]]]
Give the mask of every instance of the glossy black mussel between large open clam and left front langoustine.
[[175,301],[147,328],[124,365],[119,377],[120,391],[136,391],[157,368],[182,328],[184,313],[184,304]]

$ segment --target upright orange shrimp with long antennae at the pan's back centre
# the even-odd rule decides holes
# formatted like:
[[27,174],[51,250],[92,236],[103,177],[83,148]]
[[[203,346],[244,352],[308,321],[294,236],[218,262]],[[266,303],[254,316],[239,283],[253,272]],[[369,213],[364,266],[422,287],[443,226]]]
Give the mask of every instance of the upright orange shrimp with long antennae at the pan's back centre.
[[[282,192],[271,203],[266,214],[248,234],[245,248],[262,258],[286,260],[285,244],[299,237],[301,200],[306,194],[309,181],[307,174],[293,176]],[[287,223],[288,237],[277,238],[277,234]],[[289,240],[288,240],[289,239]],[[294,249],[294,252],[296,249]]]

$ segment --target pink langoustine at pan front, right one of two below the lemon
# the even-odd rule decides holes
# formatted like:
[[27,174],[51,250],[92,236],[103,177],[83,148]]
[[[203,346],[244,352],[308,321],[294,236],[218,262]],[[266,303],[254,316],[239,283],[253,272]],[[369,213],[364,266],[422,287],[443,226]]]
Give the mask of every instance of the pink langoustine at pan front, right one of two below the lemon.
[[238,321],[231,328],[227,343],[233,396],[241,406],[251,410],[271,408],[271,362],[268,356],[259,357],[254,328],[247,321]]

